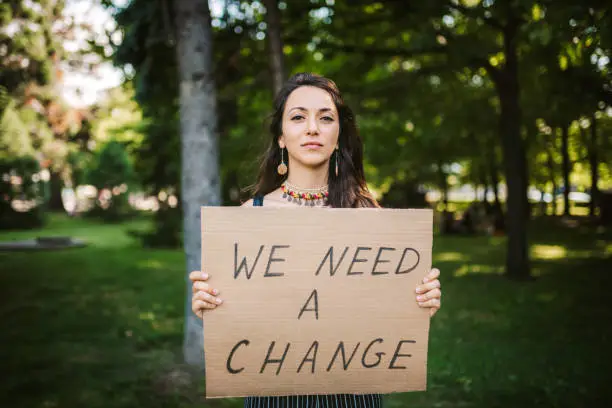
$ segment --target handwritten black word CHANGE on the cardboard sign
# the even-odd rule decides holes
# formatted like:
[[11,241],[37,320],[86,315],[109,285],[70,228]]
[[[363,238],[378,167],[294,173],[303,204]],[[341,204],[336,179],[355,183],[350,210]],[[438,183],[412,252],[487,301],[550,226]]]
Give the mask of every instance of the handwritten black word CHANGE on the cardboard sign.
[[[242,349],[248,348],[251,344],[249,340],[240,340],[232,347],[231,351],[227,356],[226,368],[231,374],[240,374],[245,369],[250,372],[258,370],[259,374],[263,374],[266,370],[274,370],[276,368],[276,375],[281,373],[283,366],[287,367],[285,362],[287,360],[293,360],[298,362],[297,373],[310,372],[314,373],[318,371],[332,371],[332,370],[344,370],[347,371],[351,367],[363,367],[363,368],[375,368],[383,367],[389,370],[405,370],[405,361],[401,361],[402,358],[412,357],[412,354],[407,354],[406,351],[402,350],[402,347],[406,348],[406,344],[416,343],[414,340],[399,340],[395,347],[395,352],[390,355],[385,361],[385,355],[387,353],[380,351],[380,347],[383,345],[384,340],[382,338],[376,338],[369,343],[358,342],[354,347],[345,346],[343,341],[338,342],[334,353],[331,358],[329,357],[318,357],[319,354],[319,341],[315,340],[312,342],[307,351],[296,350],[295,345],[286,343],[284,348],[276,349],[276,342],[270,342],[266,356],[261,359],[261,365],[257,364],[256,367],[246,368],[241,364],[241,360],[253,361],[252,358],[241,359]],[[378,351],[377,351],[378,349]],[[352,365],[351,365],[352,364]],[[272,368],[268,368],[268,367]],[[295,366],[295,365],[294,365]],[[283,372],[289,370],[285,368]]]

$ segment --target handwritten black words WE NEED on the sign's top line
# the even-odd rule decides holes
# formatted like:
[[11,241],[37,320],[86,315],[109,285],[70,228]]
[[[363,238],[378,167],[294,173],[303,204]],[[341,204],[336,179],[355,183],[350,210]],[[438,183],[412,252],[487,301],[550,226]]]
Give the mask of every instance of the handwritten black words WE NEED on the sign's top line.
[[[290,262],[287,259],[290,245],[272,245],[266,248],[265,245],[259,247],[256,254],[251,254],[250,260],[247,256],[239,254],[238,243],[234,243],[234,279],[244,272],[247,279],[251,279],[257,265],[265,267],[264,277],[284,276],[282,264]],[[263,255],[264,251],[267,255]],[[267,260],[261,261],[261,258]],[[321,254],[320,261],[313,265],[315,275],[329,273],[329,276],[336,274],[342,275],[389,275],[406,274],[412,272],[419,265],[421,255],[414,248],[393,248],[393,247],[366,247],[358,246],[355,248],[343,247],[335,248],[330,246],[325,253]],[[265,265],[264,265],[265,264]]]

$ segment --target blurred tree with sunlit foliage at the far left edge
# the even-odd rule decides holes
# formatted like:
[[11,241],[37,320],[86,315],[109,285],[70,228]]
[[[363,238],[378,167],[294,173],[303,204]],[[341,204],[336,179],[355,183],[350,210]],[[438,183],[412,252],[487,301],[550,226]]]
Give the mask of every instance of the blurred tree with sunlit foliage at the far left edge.
[[70,153],[85,150],[82,142],[91,136],[90,113],[67,106],[62,96],[65,65],[80,64],[87,54],[80,45],[69,52],[67,43],[91,30],[77,27],[63,0],[3,2],[0,26],[0,92],[7,113],[0,112],[0,145],[23,143],[20,155],[36,151],[51,174],[47,208],[62,211],[61,189],[72,181]]

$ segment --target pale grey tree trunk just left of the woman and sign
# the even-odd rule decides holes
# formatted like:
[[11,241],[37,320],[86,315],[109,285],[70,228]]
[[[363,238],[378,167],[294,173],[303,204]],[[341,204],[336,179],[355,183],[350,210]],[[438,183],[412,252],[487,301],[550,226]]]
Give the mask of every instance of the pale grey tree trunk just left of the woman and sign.
[[[201,269],[201,206],[220,203],[216,95],[208,2],[177,0],[180,81],[181,196],[187,273]],[[188,278],[183,352],[188,364],[204,365],[202,321],[191,311]]]

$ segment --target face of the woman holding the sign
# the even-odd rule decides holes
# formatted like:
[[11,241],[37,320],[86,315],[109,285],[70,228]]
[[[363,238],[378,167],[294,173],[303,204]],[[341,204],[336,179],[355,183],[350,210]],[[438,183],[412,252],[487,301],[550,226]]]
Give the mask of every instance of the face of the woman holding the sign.
[[287,148],[290,164],[311,168],[328,165],[340,133],[340,118],[331,95],[314,86],[291,92],[285,103],[282,131],[278,144]]

